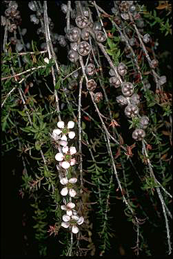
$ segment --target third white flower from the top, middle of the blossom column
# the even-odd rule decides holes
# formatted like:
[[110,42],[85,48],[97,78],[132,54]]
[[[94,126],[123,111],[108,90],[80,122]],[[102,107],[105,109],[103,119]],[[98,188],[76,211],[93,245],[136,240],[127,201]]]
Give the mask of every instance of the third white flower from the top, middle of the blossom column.
[[61,190],[61,195],[66,196],[70,195],[70,197],[74,197],[77,195],[77,192],[72,188],[72,184],[77,182],[77,178],[61,178],[60,183],[65,185],[65,187]]

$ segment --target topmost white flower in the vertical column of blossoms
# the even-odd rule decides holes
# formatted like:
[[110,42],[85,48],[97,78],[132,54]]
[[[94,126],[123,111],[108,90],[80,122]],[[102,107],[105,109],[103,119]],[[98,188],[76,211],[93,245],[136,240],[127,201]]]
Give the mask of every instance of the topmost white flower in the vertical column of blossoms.
[[[74,127],[74,121],[70,120],[68,122],[68,126],[65,127],[64,126],[64,122],[63,121],[59,121],[57,123],[57,126],[59,127],[59,129],[55,129],[53,130],[52,133],[52,138],[57,140],[57,139],[61,139],[62,141],[67,141],[67,134],[69,139],[74,139],[75,136],[75,132],[70,132],[70,129],[72,129]],[[61,136],[59,136],[61,134]]]

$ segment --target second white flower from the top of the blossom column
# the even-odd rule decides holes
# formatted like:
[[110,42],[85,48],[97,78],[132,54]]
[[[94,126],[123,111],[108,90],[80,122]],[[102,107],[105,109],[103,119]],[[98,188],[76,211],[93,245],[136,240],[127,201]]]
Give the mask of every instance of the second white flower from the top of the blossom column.
[[70,166],[74,166],[76,163],[76,159],[72,159],[72,154],[77,153],[76,148],[70,147],[69,149],[68,146],[66,145],[62,148],[62,151],[65,154],[57,153],[55,155],[55,159],[60,162],[59,165],[64,169],[68,169],[70,168]]

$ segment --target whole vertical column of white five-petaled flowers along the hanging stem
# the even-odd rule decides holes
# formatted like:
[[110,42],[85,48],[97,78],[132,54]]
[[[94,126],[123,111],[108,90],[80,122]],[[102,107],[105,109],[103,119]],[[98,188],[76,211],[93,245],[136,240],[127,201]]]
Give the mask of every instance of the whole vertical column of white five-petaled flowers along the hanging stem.
[[[59,152],[55,155],[55,159],[59,161],[59,166],[57,166],[57,169],[59,170],[60,168],[63,168],[66,171],[65,176],[59,172],[60,183],[63,185],[61,195],[64,197],[64,205],[61,205],[61,210],[65,211],[61,226],[65,229],[70,227],[72,233],[78,233],[79,228],[77,225],[81,225],[84,218],[77,215],[77,211],[74,210],[76,204],[72,202],[72,198],[77,195],[77,191],[74,190],[75,184],[77,183],[77,178],[68,177],[68,168],[70,168],[70,166],[74,166],[76,163],[76,159],[72,156],[77,153],[77,150],[73,146],[68,146],[68,138],[74,139],[75,136],[75,132],[71,131],[71,129],[74,128],[74,122],[70,120],[68,125],[65,127],[65,123],[63,121],[59,121],[57,126],[58,128],[52,132],[52,139],[62,146],[59,148]],[[67,195],[69,195],[68,203],[65,199]]]

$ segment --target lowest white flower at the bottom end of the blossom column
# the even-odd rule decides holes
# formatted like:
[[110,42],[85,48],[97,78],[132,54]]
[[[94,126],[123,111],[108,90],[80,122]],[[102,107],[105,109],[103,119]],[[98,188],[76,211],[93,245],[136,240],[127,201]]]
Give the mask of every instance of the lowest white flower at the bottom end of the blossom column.
[[78,225],[81,225],[84,221],[83,217],[79,217],[77,215],[63,215],[63,222],[61,223],[61,226],[63,226],[65,229],[67,229],[69,226],[72,226],[72,233],[77,234],[79,232],[79,228],[77,227]]

